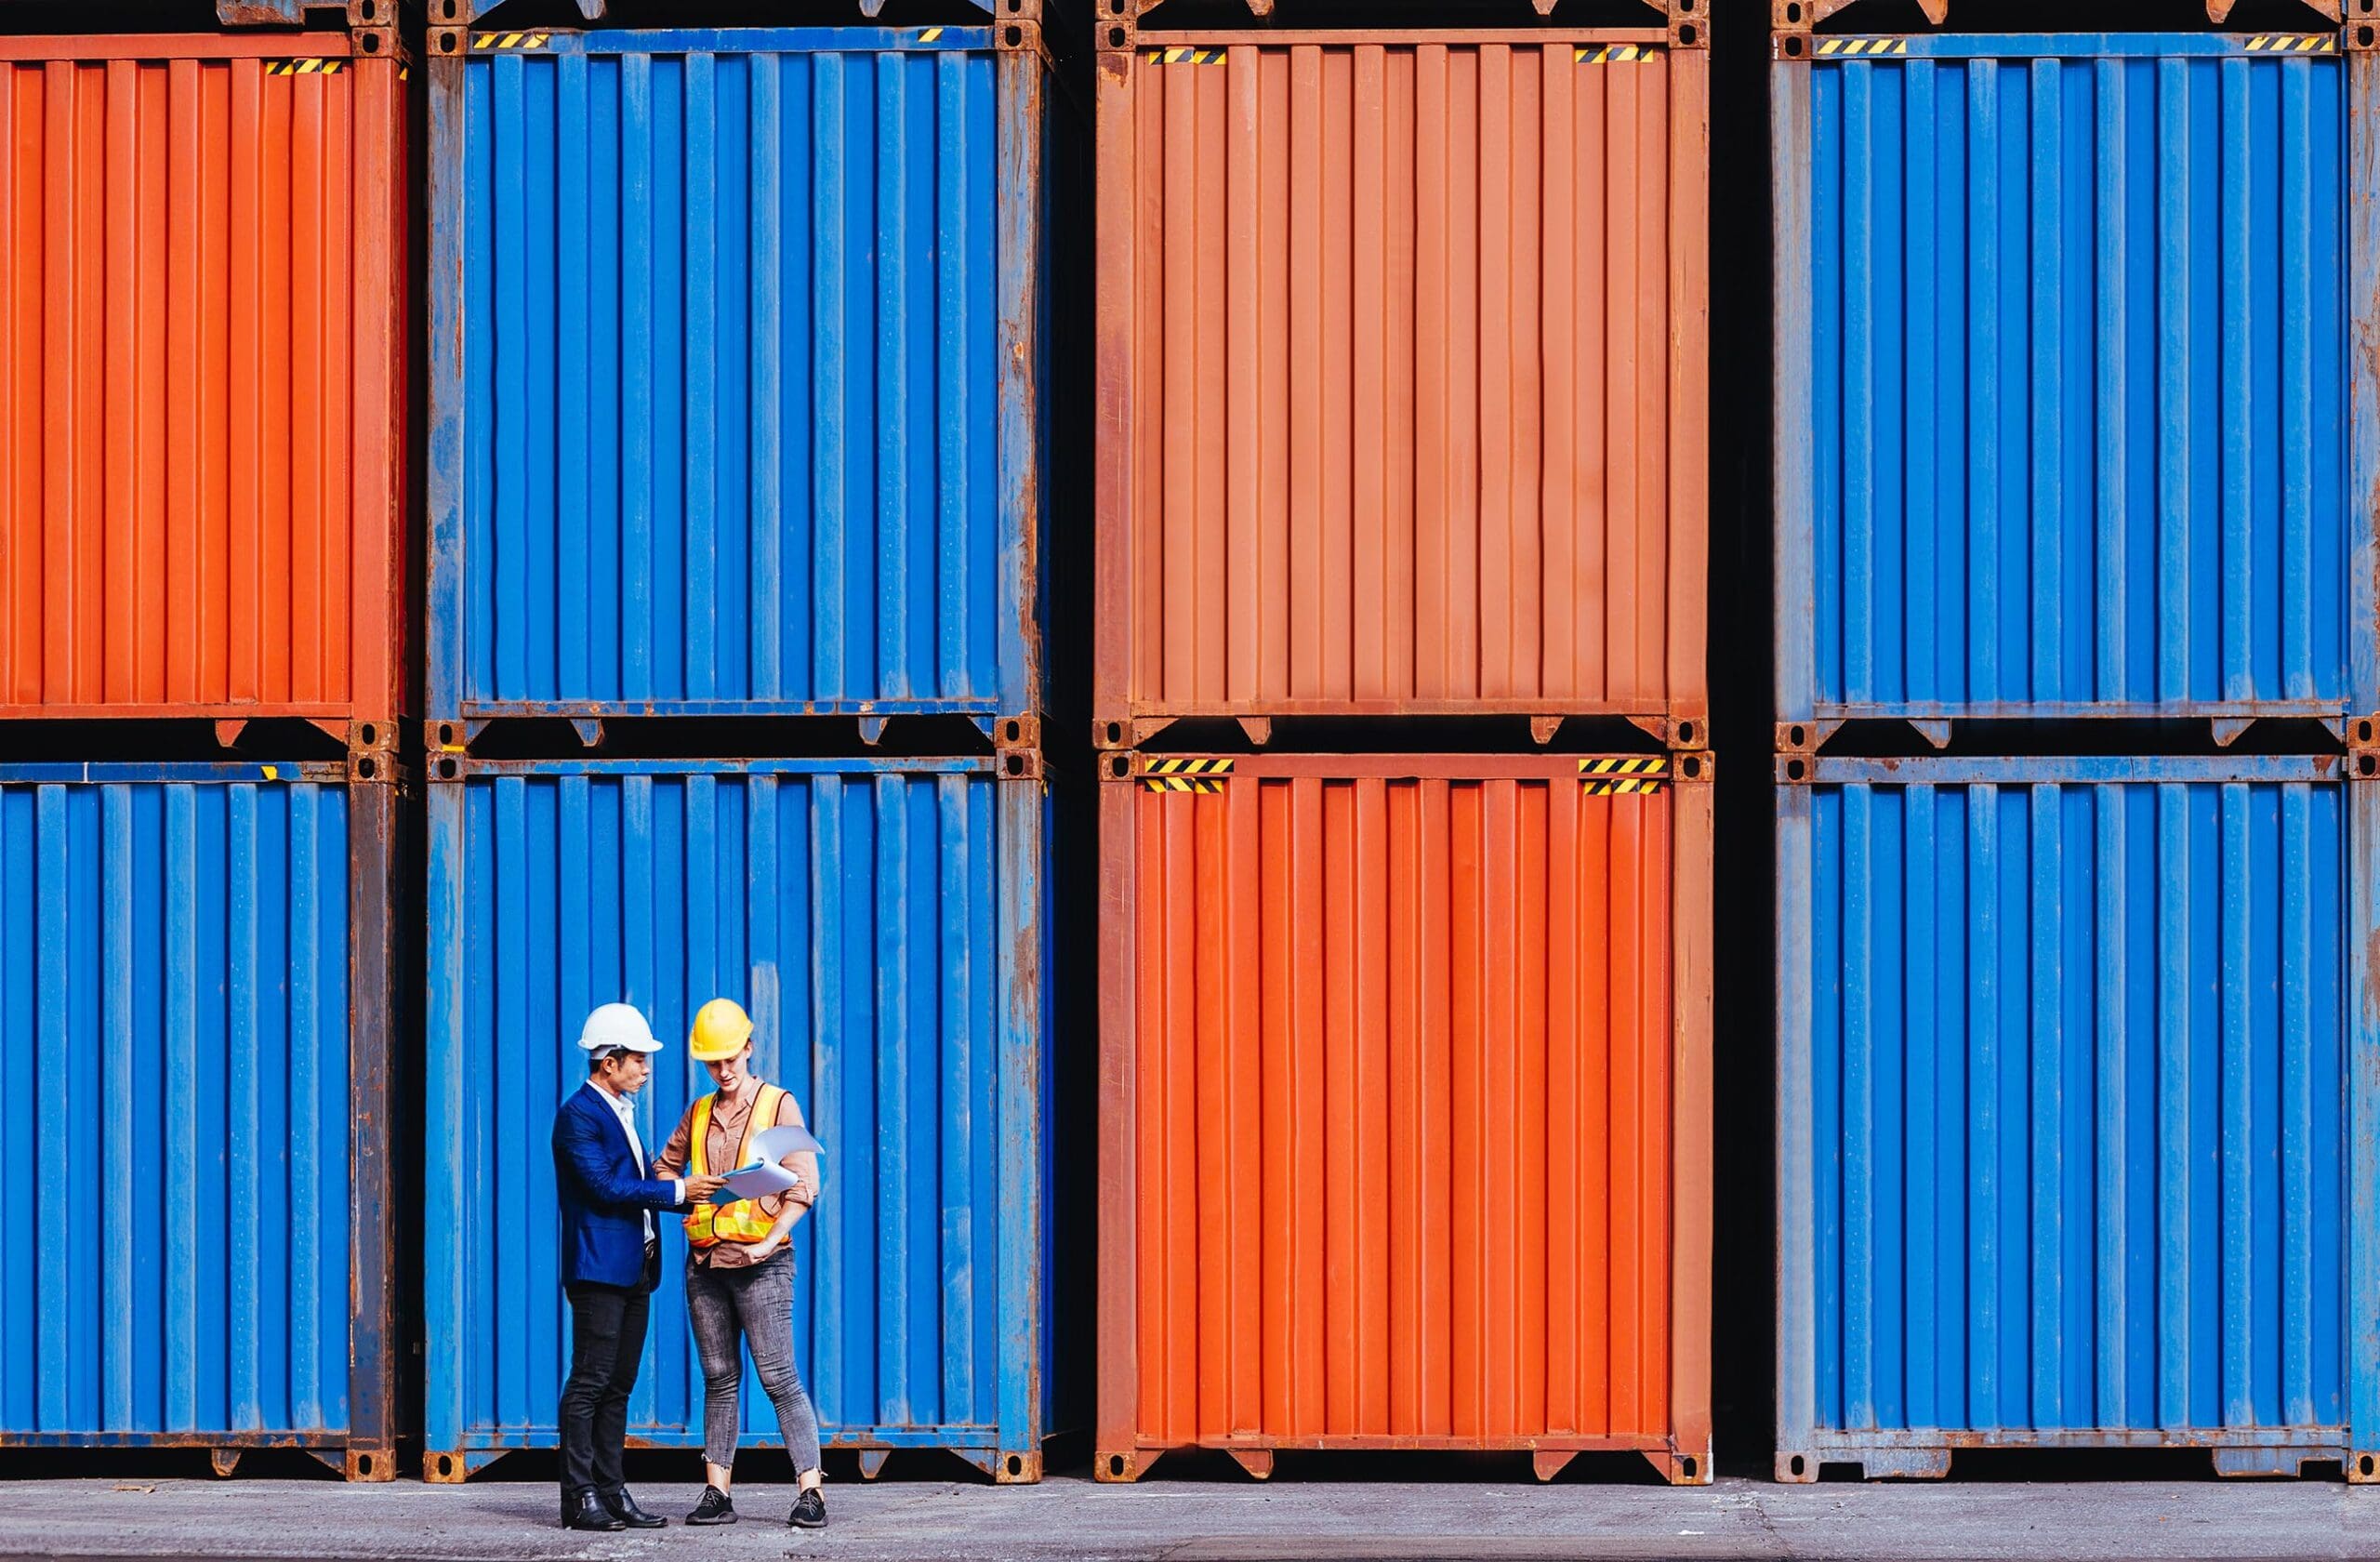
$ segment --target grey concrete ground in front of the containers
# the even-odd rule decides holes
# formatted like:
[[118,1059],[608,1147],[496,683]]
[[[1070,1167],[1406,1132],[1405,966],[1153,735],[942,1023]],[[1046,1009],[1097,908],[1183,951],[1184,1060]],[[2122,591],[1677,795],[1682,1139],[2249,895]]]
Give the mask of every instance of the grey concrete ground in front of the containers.
[[685,1529],[700,1488],[635,1488],[664,1531],[578,1536],[521,1481],[0,1481],[0,1557],[1871,1557],[2113,1562],[2380,1557],[2380,1488],[2323,1481],[1414,1486],[1164,1481],[833,1483],[826,1531],[790,1488],[743,1488],[743,1524]]

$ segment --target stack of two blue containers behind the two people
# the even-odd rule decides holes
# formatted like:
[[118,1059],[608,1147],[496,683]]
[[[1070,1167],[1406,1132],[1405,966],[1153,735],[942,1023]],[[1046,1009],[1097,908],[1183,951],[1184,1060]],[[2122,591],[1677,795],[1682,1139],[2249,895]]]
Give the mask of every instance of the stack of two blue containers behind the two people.
[[[709,1091],[683,1038],[726,995],[826,1143],[795,1229],[826,1445],[1033,1481],[1064,1398],[1040,733],[1066,81],[1031,0],[923,29],[450,21],[426,1472],[557,1443],[557,1260],[500,1233],[555,1207],[581,1019],[626,1000],[664,1038],[638,1098],[659,1145]],[[954,731],[966,752],[878,748]],[[683,1252],[664,1241],[635,1445],[702,1443]],[[774,1445],[757,1381],[743,1410]]]

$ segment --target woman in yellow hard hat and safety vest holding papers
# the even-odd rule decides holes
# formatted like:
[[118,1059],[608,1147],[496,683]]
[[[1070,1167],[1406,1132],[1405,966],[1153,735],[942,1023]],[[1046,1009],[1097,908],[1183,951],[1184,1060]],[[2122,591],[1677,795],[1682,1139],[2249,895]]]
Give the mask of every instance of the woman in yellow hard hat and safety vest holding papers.
[[[652,1164],[652,1174],[712,1176],[743,1167],[752,1136],[781,1124],[802,1124],[802,1107],[783,1088],[752,1074],[752,1017],[733,998],[712,998],[695,1014],[688,1038],[695,1060],[719,1086],[678,1119],[678,1131]],[[819,1417],[793,1369],[793,1224],[819,1198],[819,1157],[788,1155],[785,1169],[800,1181],[781,1195],[733,1205],[695,1205],[685,1217],[685,1314],[702,1357],[702,1460],[709,1486],[688,1524],[733,1524],[735,1426],[743,1383],[743,1345],[776,1405],[778,1431],[793,1457],[800,1493],[785,1519],[800,1529],[826,1526],[819,1483]]]

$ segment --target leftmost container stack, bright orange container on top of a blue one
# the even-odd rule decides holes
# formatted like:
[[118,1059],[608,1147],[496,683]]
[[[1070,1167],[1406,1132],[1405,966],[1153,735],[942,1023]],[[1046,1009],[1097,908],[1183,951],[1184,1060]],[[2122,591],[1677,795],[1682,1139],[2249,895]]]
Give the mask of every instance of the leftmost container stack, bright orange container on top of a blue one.
[[407,67],[228,12],[0,38],[0,1443],[390,1479]]

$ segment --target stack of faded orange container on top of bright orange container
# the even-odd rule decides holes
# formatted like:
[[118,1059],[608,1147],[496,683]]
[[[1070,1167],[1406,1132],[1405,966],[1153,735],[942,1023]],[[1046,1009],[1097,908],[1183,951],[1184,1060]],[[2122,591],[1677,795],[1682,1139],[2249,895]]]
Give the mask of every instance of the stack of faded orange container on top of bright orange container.
[[[1699,7],[1150,10],[1097,17],[1095,1469],[1706,1481]],[[1449,717],[1537,748],[1345,752]]]

